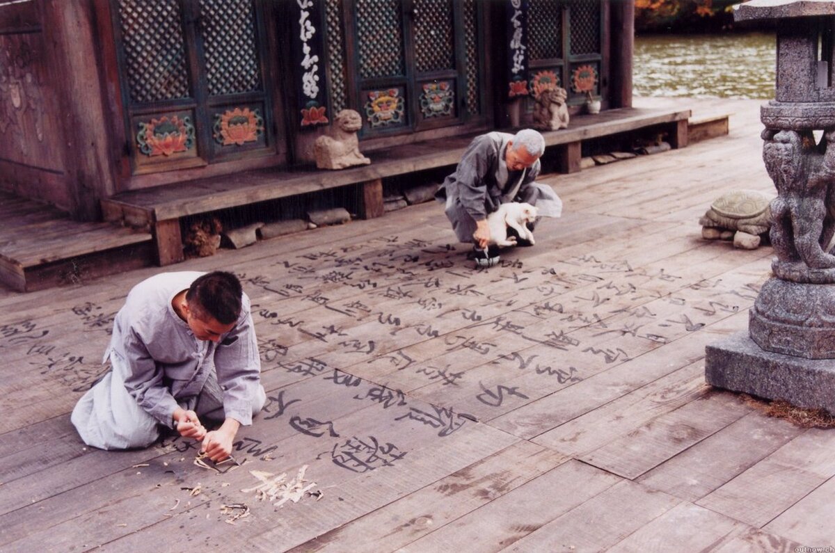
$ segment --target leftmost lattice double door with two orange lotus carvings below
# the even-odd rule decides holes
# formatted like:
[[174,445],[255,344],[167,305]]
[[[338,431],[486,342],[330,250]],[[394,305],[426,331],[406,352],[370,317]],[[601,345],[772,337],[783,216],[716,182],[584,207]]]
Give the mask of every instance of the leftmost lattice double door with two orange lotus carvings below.
[[113,0],[134,174],[274,150],[255,0]]

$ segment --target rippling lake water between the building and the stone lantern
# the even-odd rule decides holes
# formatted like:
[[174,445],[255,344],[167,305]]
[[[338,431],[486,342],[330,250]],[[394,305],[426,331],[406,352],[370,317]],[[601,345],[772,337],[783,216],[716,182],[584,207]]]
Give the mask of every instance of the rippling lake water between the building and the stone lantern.
[[772,99],[776,42],[768,33],[637,36],[633,94]]

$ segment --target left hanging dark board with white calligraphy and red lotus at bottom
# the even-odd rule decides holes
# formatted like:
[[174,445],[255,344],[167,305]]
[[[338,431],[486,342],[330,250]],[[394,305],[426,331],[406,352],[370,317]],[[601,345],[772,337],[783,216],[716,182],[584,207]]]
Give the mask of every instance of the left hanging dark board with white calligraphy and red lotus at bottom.
[[301,129],[327,124],[325,24],[322,0],[294,0],[291,39]]

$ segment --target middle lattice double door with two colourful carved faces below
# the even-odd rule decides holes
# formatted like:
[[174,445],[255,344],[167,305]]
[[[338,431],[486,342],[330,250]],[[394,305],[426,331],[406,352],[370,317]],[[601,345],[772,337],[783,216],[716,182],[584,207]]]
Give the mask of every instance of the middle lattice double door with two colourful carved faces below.
[[480,112],[478,3],[354,0],[350,14],[365,136],[461,124]]

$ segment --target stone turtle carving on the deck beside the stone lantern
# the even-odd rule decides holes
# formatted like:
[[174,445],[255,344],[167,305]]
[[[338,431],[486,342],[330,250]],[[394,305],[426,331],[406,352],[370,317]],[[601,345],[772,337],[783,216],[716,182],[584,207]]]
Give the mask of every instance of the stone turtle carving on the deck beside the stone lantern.
[[733,240],[745,250],[760,246],[761,235],[771,226],[769,204],[773,196],[757,190],[734,190],[716,198],[699,220],[707,240]]

